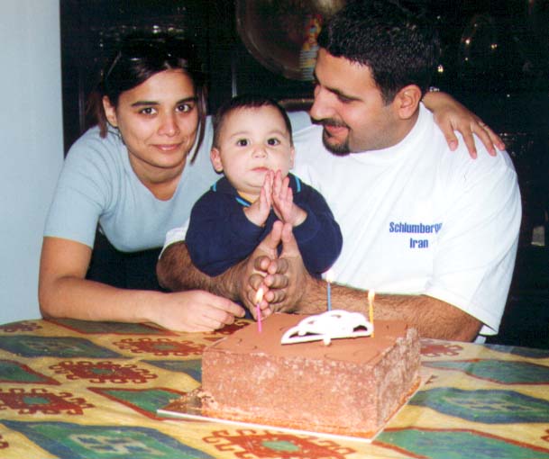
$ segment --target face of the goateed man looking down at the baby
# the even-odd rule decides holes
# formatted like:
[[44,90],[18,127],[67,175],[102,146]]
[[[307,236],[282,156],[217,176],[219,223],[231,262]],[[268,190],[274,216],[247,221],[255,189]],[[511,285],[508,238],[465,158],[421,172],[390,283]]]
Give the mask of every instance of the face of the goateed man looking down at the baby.
[[393,104],[384,103],[369,67],[320,49],[315,76],[310,115],[324,126],[326,148],[345,155],[388,148],[400,141]]

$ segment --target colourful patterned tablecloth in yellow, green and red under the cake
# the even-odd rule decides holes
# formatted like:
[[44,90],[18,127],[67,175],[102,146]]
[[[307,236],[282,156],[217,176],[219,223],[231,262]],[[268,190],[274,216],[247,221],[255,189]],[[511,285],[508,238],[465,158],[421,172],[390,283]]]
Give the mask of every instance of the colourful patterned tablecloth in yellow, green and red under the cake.
[[202,349],[244,325],[0,326],[0,458],[549,458],[549,351],[424,340],[425,385],[368,444],[167,419]]

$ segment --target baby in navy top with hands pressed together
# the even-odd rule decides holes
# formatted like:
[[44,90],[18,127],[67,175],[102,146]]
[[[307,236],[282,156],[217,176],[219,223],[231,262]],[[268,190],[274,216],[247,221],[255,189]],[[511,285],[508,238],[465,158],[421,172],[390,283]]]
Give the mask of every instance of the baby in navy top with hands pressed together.
[[222,274],[248,257],[276,220],[292,225],[311,275],[334,264],[341,230],[323,196],[288,173],[294,153],[288,114],[275,101],[241,95],[219,109],[210,157],[224,177],[193,207],[186,238],[198,269]]

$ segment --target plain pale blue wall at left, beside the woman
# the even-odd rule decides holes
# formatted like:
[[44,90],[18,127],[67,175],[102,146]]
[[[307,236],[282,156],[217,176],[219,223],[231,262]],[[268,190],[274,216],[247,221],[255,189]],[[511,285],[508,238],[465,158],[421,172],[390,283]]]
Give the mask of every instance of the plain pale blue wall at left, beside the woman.
[[62,164],[58,0],[0,2],[0,323],[40,317],[41,234]]

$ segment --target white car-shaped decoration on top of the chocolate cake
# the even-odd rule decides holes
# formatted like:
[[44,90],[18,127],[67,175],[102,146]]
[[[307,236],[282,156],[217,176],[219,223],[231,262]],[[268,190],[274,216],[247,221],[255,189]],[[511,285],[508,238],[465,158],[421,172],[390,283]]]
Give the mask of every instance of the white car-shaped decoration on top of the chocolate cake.
[[369,337],[372,332],[373,324],[360,312],[325,311],[307,316],[295,327],[288,329],[280,343],[284,345],[322,340],[327,346],[332,339]]

